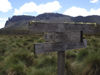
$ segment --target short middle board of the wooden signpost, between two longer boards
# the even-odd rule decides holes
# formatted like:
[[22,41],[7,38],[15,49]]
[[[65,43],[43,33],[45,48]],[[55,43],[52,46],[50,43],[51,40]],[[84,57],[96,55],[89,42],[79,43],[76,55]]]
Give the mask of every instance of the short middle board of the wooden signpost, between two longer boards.
[[46,42],[67,42],[67,43],[75,43],[80,42],[81,38],[81,31],[67,31],[66,33],[63,32],[56,32],[56,33],[45,33],[44,39]]

